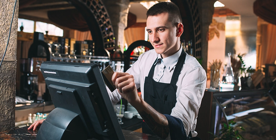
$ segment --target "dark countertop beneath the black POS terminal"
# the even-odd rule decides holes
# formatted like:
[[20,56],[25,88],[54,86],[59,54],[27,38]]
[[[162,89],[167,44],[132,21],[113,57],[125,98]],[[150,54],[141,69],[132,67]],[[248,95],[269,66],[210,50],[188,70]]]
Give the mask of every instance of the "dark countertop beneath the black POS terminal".
[[[28,126],[0,132],[0,140],[35,140],[36,131],[27,130]],[[126,140],[162,140],[161,138],[145,133],[122,130]],[[93,140],[93,139],[92,139]]]

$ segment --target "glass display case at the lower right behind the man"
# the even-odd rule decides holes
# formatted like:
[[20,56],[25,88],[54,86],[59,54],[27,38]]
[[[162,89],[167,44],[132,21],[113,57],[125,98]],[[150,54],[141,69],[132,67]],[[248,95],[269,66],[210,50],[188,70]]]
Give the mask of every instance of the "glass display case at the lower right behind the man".
[[206,91],[196,126],[207,125],[205,130],[197,131],[205,134],[201,138],[213,139],[211,134],[206,133],[219,135],[223,124],[228,125],[230,121],[245,128],[245,131],[239,132],[245,139],[276,139],[276,103],[267,90]]

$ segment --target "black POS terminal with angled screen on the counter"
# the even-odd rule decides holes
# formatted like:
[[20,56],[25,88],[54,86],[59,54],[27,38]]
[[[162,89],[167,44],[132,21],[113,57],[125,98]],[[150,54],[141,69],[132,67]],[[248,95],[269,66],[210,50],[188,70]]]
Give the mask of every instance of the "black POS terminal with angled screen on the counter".
[[41,72],[55,109],[37,140],[124,140],[98,65],[46,61]]

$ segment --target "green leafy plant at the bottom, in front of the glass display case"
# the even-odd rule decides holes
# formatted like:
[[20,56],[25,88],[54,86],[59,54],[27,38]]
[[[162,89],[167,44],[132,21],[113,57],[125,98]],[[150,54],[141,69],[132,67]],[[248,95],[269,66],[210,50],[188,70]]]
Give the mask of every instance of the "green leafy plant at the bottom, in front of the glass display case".
[[242,126],[236,125],[234,121],[230,121],[229,125],[223,123],[223,128],[219,130],[219,135],[214,135],[214,140],[240,140],[244,139],[239,133],[240,130],[245,130]]

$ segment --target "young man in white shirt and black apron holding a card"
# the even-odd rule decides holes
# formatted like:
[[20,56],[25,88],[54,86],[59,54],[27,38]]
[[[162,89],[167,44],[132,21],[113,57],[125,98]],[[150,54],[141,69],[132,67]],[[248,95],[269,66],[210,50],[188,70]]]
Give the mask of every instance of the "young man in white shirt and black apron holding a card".
[[[196,118],[205,87],[206,72],[180,44],[183,24],[178,7],[160,2],[147,12],[147,31],[154,47],[141,54],[126,73],[115,72],[118,88],[113,103],[125,98],[143,118],[143,133],[185,140],[195,137]],[[137,88],[141,88],[142,98]],[[30,126],[35,130],[42,121]]]

